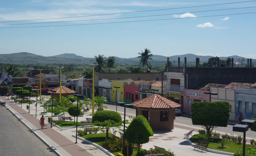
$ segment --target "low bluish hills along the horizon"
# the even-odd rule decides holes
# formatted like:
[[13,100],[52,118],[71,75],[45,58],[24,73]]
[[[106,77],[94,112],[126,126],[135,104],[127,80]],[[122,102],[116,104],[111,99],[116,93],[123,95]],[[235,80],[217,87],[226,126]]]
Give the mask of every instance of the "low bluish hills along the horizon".
[[[196,61],[196,58],[200,59],[200,64],[207,62],[209,58],[215,57],[215,56],[198,56],[191,53],[185,54],[185,55],[175,55],[175,56],[169,56],[169,61],[178,62],[178,57],[180,57],[181,64],[184,64],[184,57],[187,57],[187,63],[194,64]],[[234,55],[229,56],[230,58],[234,59],[234,62],[238,61],[238,59],[241,59],[242,57]],[[138,57],[132,57],[132,58],[120,58],[115,57],[117,60],[117,64],[119,66],[125,66],[125,65],[138,65],[139,64],[139,58]],[[228,57],[220,57],[220,59],[227,59]],[[154,55],[152,57],[153,61],[151,61],[151,64],[165,64],[167,61],[166,56],[161,55]],[[41,56],[41,55],[35,55],[33,53],[27,53],[27,52],[20,52],[20,53],[12,53],[12,54],[0,54],[0,63],[3,64],[90,64],[94,63],[95,58],[89,58],[89,57],[82,57],[75,55],[74,53],[64,53],[61,55],[55,55],[55,56]],[[246,61],[247,62],[247,61]],[[252,64],[256,63],[256,59],[252,59]]]

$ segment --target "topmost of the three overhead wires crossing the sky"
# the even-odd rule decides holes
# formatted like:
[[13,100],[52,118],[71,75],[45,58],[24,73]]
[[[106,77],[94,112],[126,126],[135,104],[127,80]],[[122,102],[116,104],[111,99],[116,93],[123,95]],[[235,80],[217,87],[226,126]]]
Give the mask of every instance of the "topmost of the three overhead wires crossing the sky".
[[106,14],[99,14],[99,15],[86,15],[86,16],[73,16],[73,17],[59,17],[59,18],[48,18],[48,19],[32,19],[32,20],[15,20],[15,21],[0,21],[3,22],[18,22],[18,21],[35,21],[35,20],[52,20],[52,19],[67,19],[67,18],[77,18],[77,17],[90,17],[90,16],[103,16],[103,15],[117,15],[117,14],[124,14],[124,13],[138,13],[138,12],[150,12],[150,11],[163,11],[163,10],[172,10],[172,9],[185,9],[185,8],[196,8],[196,7],[208,7],[214,5],[226,5],[226,4],[236,4],[236,3],[247,3],[253,2],[256,0],[251,1],[239,1],[239,2],[231,2],[231,3],[220,3],[220,4],[209,4],[209,5],[199,5],[199,6],[192,6],[192,7],[180,7],[180,8],[169,8],[169,9],[156,9],[156,10],[146,10],[146,11],[132,11],[132,12],[120,12],[120,13],[106,13]]

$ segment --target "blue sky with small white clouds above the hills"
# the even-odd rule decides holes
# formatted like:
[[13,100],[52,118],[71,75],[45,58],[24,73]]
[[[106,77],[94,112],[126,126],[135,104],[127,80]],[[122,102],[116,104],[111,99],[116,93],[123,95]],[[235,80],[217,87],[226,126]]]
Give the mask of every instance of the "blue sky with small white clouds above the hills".
[[254,0],[0,1],[0,54],[256,59],[255,28]]

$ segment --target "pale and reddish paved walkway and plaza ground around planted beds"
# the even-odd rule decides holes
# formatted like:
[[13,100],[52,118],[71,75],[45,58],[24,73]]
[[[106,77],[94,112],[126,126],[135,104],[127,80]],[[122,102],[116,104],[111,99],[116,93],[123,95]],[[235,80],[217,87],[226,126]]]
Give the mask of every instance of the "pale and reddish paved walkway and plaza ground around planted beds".
[[[33,97],[34,98],[34,97]],[[43,112],[43,108],[37,107],[37,117],[35,117],[35,104],[30,104],[30,113],[26,109],[27,104],[15,104],[11,102],[7,97],[1,96],[2,101],[6,101],[6,107],[14,113],[14,115],[20,119],[35,135],[37,135],[42,141],[45,142],[57,155],[62,156],[106,156],[107,154],[101,149],[77,139],[77,144],[75,144],[76,138],[72,135],[76,133],[75,127],[70,128],[57,128],[53,126],[50,128],[48,123],[48,116],[51,116],[51,113],[45,115],[46,126],[44,129],[40,129],[39,119],[41,117],[40,112]],[[33,99],[34,100],[34,99]],[[118,112],[123,118],[124,113]],[[78,121],[85,120],[86,117],[91,117],[91,111],[85,113],[84,116],[78,117]],[[65,114],[65,116],[69,116]],[[129,116],[126,114],[126,116]],[[133,117],[135,115],[132,115]],[[57,117],[53,117],[53,120],[58,120]],[[78,129],[83,129],[78,127]],[[143,144],[143,149],[154,148],[154,145],[158,147],[165,148],[166,150],[174,152],[176,156],[222,156],[222,154],[212,153],[212,152],[201,152],[201,150],[193,150],[194,148],[189,144],[187,139],[184,138],[184,134],[193,130],[193,135],[197,133],[198,128],[174,124],[174,129],[171,131],[154,131],[154,136],[150,137],[148,143]],[[119,133],[117,133],[119,135]],[[248,142],[248,140],[247,140]]]

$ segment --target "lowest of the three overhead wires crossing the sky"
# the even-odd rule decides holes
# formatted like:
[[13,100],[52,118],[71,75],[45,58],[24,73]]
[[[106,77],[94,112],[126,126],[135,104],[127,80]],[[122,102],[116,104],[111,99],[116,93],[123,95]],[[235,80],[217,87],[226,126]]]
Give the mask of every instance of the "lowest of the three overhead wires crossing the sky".
[[171,19],[152,19],[152,20],[138,20],[138,21],[121,21],[121,22],[91,23],[91,24],[45,25],[45,26],[27,26],[27,27],[0,27],[0,29],[5,29],[5,28],[37,28],[37,27],[65,27],[65,26],[77,26],[77,25],[97,25],[97,24],[113,24],[113,23],[131,23],[131,22],[144,22],[144,21],[161,21],[161,20],[174,20],[174,19],[191,19],[191,18],[202,18],[202,17],[244,15],[244,14],[252,14],[252,13],[256,13],[256,12],[233,13],[233,14],[210,15],[210,16],[197,16],[197,17],[184,17],[184,18],[171,18]]

